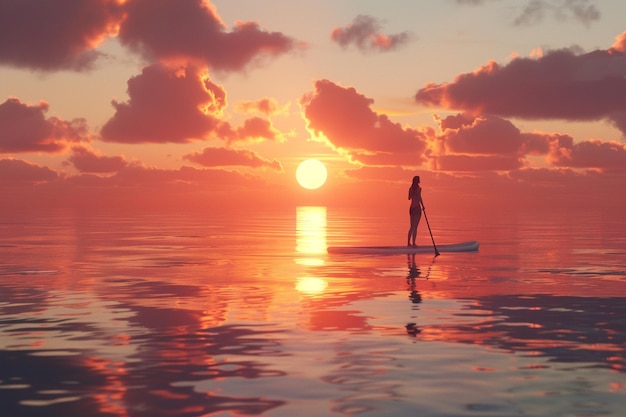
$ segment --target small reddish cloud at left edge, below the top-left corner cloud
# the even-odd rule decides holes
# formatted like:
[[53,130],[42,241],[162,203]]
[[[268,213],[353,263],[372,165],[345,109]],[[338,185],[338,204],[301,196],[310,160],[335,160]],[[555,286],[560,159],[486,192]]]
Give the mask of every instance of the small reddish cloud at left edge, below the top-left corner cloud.
[[17,98],[0,104],[0,153],[64,151],[69,143],[87,140],[83,119],[45,118],[49,105],[29,106]]

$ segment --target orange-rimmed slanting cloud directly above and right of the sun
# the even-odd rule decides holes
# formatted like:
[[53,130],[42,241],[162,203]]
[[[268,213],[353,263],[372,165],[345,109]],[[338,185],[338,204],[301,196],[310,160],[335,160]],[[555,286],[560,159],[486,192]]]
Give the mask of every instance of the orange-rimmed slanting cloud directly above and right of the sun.
[[[403,128],[371,109],[374,103],[354,88],[328,80],[315,83],[315,91],[303,95],[300,104],[307,128],[329,146],[368,164],[417,166],[426,158],[427,133]],[[367,158],[364,158],[367,155]]]

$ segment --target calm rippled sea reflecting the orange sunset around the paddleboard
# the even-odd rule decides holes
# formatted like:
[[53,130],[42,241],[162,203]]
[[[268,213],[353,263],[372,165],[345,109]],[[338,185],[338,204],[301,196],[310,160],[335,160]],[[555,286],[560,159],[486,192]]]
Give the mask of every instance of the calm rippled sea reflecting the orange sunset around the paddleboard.
[[405,220],[5,216],[0,415],[626,415],[624,217],[429,213],[480,251],[326,254]]

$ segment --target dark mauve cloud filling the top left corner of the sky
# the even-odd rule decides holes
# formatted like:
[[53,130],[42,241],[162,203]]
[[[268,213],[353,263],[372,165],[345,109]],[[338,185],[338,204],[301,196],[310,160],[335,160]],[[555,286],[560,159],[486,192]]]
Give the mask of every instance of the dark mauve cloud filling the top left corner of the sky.
[[90,69],[114,34],[116,0],[0,1],[0,64],[35,70]]

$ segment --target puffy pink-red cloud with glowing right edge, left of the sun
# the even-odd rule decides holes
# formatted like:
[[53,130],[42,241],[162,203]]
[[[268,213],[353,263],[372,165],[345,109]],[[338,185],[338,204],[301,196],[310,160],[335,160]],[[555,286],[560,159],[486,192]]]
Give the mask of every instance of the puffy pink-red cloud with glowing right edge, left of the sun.
[[193,68],[145,67],[128,81],[127,102],[113,100],[115,115],[102,127],[105,141],[185,143],[201,140],[219,125],[226,92]]

